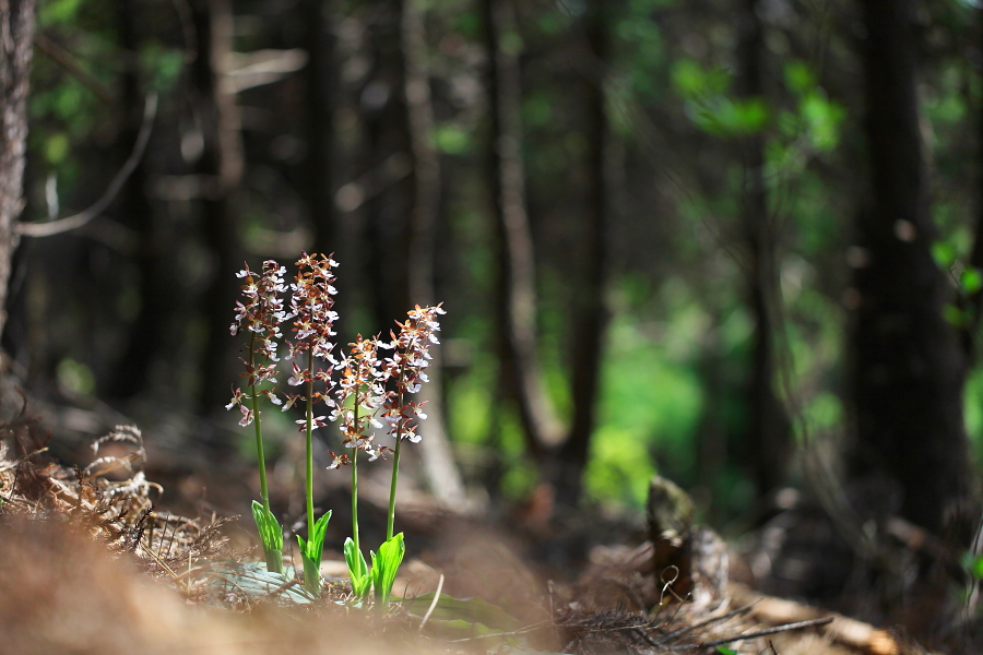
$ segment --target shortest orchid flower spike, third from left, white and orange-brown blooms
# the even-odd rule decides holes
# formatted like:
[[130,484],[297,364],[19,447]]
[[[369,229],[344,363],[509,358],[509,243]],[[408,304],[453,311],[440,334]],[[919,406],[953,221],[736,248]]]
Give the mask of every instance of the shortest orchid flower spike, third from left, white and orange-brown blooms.
[[[345,448],[365,451],[369,455],[369,462],[372,462],[388,450],[372,443],[375,433],[369,429],[369,426],[382,427],[376,420],[376,410],[387,397],[383,388],[387,373],[379,365],[378,340],[363,338],[359,334],[348,346],[348,355],[337,364],[341,379],[334,392],[335,409],[331,414],[331,420],[341,419],[339,429],[344,434]],[[335,456],[329,468],[346,463],[344,456]]]

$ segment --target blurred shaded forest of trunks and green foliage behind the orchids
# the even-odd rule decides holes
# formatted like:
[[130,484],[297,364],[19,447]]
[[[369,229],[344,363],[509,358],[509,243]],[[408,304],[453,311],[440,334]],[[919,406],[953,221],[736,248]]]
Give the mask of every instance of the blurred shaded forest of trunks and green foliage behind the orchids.
[[248,462],[234,273],[307,250],[342,342],[443,301],[450,504],[974,502],[970,0],[38,0],[33,47],[2,343],[64,429]]

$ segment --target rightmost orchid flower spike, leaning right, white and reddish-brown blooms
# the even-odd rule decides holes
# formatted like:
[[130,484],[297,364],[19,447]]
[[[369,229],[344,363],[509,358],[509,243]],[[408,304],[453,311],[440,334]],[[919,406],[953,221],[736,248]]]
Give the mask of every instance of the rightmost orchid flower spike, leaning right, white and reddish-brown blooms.
[[389,424],[388,433],[398,440],[408,439],[413,443],[419,441],[414,421],[427,417],[423,413],[426,401],[410,401],[406,394],[418,392],[423,383],[427,382],[424,369],[430,366],[430,345],[440,343],[436,335],[440,331],[437,317],[442,313],[446,312],[440,305],[425,308],[417,305],[407,312],[405,323],[396,321],[400,332],[390,333],[392,342],[380,344],[380,347],[393,350],[392,357],[387,358],[383,364],[383,371],[387,378],[395,381],[395,391],[387,394],[382,418]]

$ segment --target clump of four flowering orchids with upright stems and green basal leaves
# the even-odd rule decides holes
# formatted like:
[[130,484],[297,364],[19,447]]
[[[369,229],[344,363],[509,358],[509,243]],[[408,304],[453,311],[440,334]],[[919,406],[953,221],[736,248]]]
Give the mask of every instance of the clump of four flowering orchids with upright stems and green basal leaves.
[[[296,422],[306,438],[307,539],[298,535],[297,540],[304,562],[304,584],[315,595],[321,591],[320,562],[331,512],[315,520],[312,433],[327,426],[328,421],[339,424],[343,445],[351,454],[336,455],[329,451],[332,463],[328,468],[347,465],[352,471],[352,536],[344,544],[352,590],[362,599],[374,590],[377,604],[387,607],[406,550],[403,534],[393,534],[401,449],[403,441],[416,443],[421,440],[416,431],[417,421],[426,418],[423,413],[425,402],[415,402],[410,396],[427,382],[425,369],[430,362],[429,347],[439,343],[436,336],[440,330],[438,315],[445,311],[440,305],[416,306],[407,312],[405,322],[396,321],[399,331],[390,332],[390,341],[382,342],[378,336],[363,338],[359,334],[355,342],[348,344],[348,354],[336,360],[331,342],[337,320],[332,309],[336,291],[331,270],[335,266],[337,263],[331,257],[308,255],[305,252],[297,262],[297,274],[289,285],[289,311],[284,310],[280,299],[280,294],[286,291],[283,279],[286,271],[275,261],[263,262],[260,274],[251,272],[248,265],[238,273],[239,277],[246,278],[242,286],[245,302],[236,303],[232,333],[235,335],[244,327],[249,331],[248,355],[242,360],[248,393],[235,389],[226,408],[239,407],[242,414],[239,425],[256,425],[262,503],[253,501],[252,512],[263,544],[267,568],[271,572],[282,573],[283,531],[270,512],[259,403],[267,398],[282,405],[283,410],[298,403],[305,405],[305,418]],[[276,395],[275,386],[261,385],[276,383],[276,340],[282,338],[280,324],[291,319],[293,340],[288,342],[286,359],[293,360],[293,370],[287,383],[303,388],[304,393],[287,393],[284,402]],[[391,350],[392,356],[380,360],[380,349]],[[319,362],[324,361],[329,366],[319,368]],[[336,382],[332,378],[335,372],[339,373]],[[318,403],[331,407],[329,416],[315,416]],[[376,442],[372,430],[384,427],[379,418],[388,424],[387,434],[395,440],[392,448]],[[369,551],[371,567],[362,552],[358,529],[359,451],[365,452],[369,462],[384,457],[386,452],[392,453],[386,541],[378,553]]]

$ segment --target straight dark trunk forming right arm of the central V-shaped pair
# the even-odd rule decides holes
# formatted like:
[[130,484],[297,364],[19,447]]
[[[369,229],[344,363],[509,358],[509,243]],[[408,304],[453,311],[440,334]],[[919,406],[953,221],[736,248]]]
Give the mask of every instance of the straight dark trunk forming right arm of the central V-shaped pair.
[[601,386],[601,360],[609,312],[604,301],[608,272],[607,216],[609,211],[606,183],[605,150],[607,112],[604,81],[611,46],[607,19],[611,3],[595,0],[587,19],[590,61],[585,70],[590,79],[587,98],[587,165],[584,190],[585,249],[578,265],[579,288],[572,308],[572,401],[573,413],[567,440],[557,457],[557,499],[576,504],[582,490],[583,471],[590,454],[591,436],[596,422],[596,405]]

